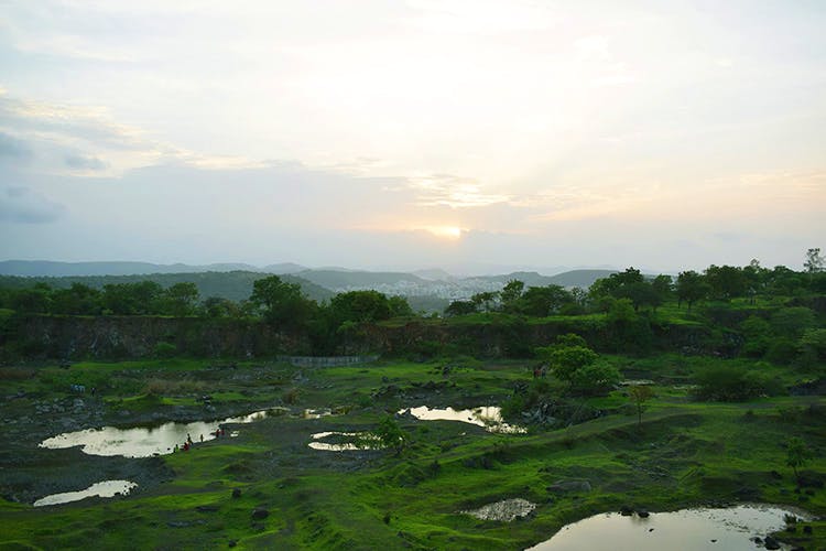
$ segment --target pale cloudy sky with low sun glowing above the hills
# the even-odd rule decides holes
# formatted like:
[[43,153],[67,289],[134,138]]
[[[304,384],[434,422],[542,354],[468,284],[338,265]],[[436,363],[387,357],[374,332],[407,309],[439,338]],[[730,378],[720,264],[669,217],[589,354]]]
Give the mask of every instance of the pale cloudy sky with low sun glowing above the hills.
[[820,0],[0,0],[0,259],[801,269],[823,29]]

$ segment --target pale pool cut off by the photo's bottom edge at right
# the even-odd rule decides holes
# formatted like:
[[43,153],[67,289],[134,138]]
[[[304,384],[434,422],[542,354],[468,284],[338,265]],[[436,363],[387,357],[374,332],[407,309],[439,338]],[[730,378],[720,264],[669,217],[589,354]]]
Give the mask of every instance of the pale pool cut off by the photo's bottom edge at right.
[[[762,538],[784,528],[784,516],[787,514],[791,512],[778,507],[749,505],[728,509],[655,512],[645,519],[610,512],[568,525],[531,550],[753,551],[756,545],[749,538]],[[717,541],[713,543],[711,540]]]

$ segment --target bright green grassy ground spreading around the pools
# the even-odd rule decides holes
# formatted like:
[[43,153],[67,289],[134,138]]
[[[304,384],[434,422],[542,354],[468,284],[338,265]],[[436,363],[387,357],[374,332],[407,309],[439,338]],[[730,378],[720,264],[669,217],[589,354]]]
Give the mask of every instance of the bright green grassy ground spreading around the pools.
[[[643,424],[633,415],[612,414],[567,430],[528,435],[497,435],[454,422],[403,420],[413,440],[401,457],[390,452],[345,454],[308,450],[308,434],[318,430],[374,426],[383,410],[420,403],[465,401],[496,403],[512,382],[530,377],[519,363],[466,361],[444,379],[442,364],[378,364],[305,371],[297,406],[349,404],[350,413],[322,420],[268,419],[246,425],[232,441],[199,444],[189,454],[165,456],[175,478],[123,499],[86,500],[48,509],[0,501],[0,547],[26,542],[42,548],[95,547],[143,549],[222,547],[376,549],[403,544],[421,549],[513,549],[548,538],[564,523],[622,504],[652,510],[735,500],[800,504],[826,514],[826,491],[817,489],[800,503],[782,443],[791,435],[826,449],[823,398],[774,398],[751,403],[699,403],[672,382],[692,365],[675,356],[645,360],[612,357],[633,375],[657,378],[659,398],[650,403]],[[170,378],[206,377],[205,364],[192,360],[130,364],[81,364],[73,367],[87,382],[124,371],[166,371]],[[242,366],[241,370],[249,368]],[[275,368],[273,368],[275,369]],[[278,369],[285,369],[279,366]],[[200,375],[199,375],[200,374]],[[14,381],[32,390],[63,381],[48,368],[40,379]],[[74,374],[73,374],[74,375]],[[291,374],[275,377],[291,381]],[[793,379],[791,375],[787,378]],[[129,377],[107,389],[108,399],[140,399]],[[176,380],[177,380],[176,379]],[[370,393],[394,385],[414,393],[413,382],[446,380],[438,395],[424,400]],[[285,388],[263,385],[265,399]],[[216,383],[218,385],[218,383]],[[220,382],[237,397],[240,389]],[[226,387],[226,388],[225,388]],[[180,389],[181,387],[174,387]],[[247,389],[248,390],[248,389]],[[135,392],[134,396],[126,396]],[[4,393],[4,392],[3,392]],[[174,397],[164,396],[163,400]],[[181,397],[177,397],[178,399]],[[620,406],[619,391],[596,399],[602,408]],[[819,404],[820,409],[808,408]],[[130,404],[130,408],[133,406]],[[748,413],[751,411],[752,413]],[[352,460],[354,454],[359,460]],[[433,467],[438,462],[439,467]],[[772,471],[782,474],[779,479]],[[826,476],[816,458],[807,471]],[[590,493],[555,495],[546,487],[563,478],[586,478]],[[243,490],[240,499],[230,489]],[[457,511],[506,497],[539,504],[528,521],[479,521]],[[196,506],[217,506],[200,512]],[[265,507],[267,519],[251,520]],[[387,522],[385,522],[387,520]],[[823,545],[826,526],[815,530]]]

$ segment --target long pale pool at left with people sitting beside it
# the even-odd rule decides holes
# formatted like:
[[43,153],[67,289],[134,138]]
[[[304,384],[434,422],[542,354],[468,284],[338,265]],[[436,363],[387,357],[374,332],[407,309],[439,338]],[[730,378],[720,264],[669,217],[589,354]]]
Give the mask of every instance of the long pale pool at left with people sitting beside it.
[[[126,457],[148,457],[153,454],[172,453],[175,445],[182,446],[186,435],[196,444],[214,440],[215,431],[222,423],[251,423],[268,415],[268,411],[257,411],[249,415],[233,417],[217,421],[195,421],[192,423],[164,423],[160,426],[135,426],[132,429],[86,429],[67,432],[41,442],[41,447],[61,449],[83,445],[89,455],[123,455]],[[228,433],[229,435],[229,433]]]

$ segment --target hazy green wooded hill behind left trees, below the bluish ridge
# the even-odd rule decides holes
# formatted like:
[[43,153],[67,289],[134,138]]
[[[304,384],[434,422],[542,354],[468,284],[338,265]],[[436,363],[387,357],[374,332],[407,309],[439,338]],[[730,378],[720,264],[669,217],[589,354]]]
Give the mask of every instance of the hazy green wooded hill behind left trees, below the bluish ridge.
[[[43,282],[51,287],[63,289],[68,288],[72,283],[83,283],[96,289],[102,289],[110,283],[131,283],[137,281],[154,281],[162,287],[174,285],[175,283],[193,282],[198,287],[202,299],[207,296],[222,296],[232,301],[242,301],[249,299],[252,293],[252,283],[256,280],[267,278],[270,273],[251,272],[251,271],[230,271],[230,272],[183,272],[183,273],[148,273],[132,276],[74,276],[62,278],[36,277],[24,278],[15,276],[0,276],[0,287],[24,288],[34,283]],[[324,289],[295,276],[280,276],[283,281],[298,283],[308,298],[316,301],[325,301],[335,294],[328,289]]]

